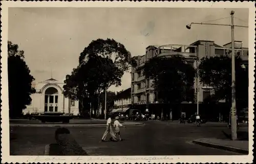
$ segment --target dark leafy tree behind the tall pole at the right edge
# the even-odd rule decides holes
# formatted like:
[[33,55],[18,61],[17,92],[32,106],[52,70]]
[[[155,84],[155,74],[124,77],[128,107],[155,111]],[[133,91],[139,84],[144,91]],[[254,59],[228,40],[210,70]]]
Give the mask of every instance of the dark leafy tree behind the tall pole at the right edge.
[[[248,68],[242,66],[241,58],[235,60],[236,101],[248,106]],[[199,64],[200,82],[212,86],[215,100],[226,100],[231,105],[231,58],[229,56],[204,57]]]

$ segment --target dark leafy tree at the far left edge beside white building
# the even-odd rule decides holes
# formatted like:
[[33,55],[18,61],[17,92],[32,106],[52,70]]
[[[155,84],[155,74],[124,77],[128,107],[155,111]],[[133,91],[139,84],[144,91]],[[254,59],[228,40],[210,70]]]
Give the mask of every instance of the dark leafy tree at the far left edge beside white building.
[[18,45],[8,41],[8,91],[9,115],[11,118],[22,114],[32,101],[30,95],[35,93],[30,75],[30,69],[24,61],[24,51],[18,50]]

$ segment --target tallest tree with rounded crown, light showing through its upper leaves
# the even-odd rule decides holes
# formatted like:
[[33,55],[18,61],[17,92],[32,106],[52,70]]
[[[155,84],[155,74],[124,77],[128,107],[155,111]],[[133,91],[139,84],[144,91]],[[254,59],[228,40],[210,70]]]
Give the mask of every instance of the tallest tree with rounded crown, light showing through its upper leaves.
[[[92,62],[93,61],[93,62]],[[97,64],[95,64],[97,63]],[[79,56],[79,65],[90,64],[91,81],[93,82],[100,103],[100,93],[110,86],[120,86],[121,78],[135,60],[123,44],[114,39],[93,40]],[[96,85],[97,84],[97,85]],[[98,105],[99,110],[99,105]]]

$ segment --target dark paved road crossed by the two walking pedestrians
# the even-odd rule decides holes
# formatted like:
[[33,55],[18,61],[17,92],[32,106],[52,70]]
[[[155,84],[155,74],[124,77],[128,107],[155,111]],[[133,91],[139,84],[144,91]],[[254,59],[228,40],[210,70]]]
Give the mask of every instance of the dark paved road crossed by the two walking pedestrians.
[[[10,155],[44,155],[45,146],[55,143],[56,127],[12,127]],[[240,128],[240,130],[245,127]],[[195,124],[147,121],[145,125],[121,128],[122,142],[99,140],[104,127],[69,128],[77,142],[90,155],[238,155],[191,143],[204,137],[223,138],[226,124]]]

